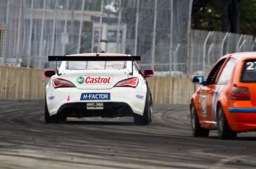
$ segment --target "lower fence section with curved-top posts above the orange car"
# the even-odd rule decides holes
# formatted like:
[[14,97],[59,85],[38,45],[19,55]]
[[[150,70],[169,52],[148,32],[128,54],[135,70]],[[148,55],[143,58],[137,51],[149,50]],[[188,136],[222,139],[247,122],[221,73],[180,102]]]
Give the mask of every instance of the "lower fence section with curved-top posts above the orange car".
[[221,56],[232,52],[255,51],[255,38],[252,35],[239,35],[229,32],[191,31],[191,55],[188,76],[208,75],[214,63]]

